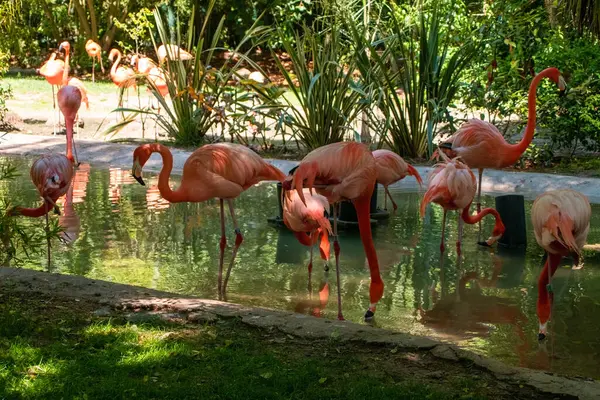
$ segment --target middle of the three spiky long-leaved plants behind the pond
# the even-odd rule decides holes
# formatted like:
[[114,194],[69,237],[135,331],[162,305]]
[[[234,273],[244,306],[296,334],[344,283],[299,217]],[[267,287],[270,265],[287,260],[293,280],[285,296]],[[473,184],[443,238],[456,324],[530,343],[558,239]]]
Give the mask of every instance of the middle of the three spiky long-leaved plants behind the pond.
[[369,95],[352,72],[357,58],[348,52],[337,29],[304,26],[292,41],[277,31],[291,59],[287,71],[275,52],[273,57],[285,78],[290,96],[285,96],[289,118],[285,123],[298,140],[312,150],[344,140],[356,117],[369,106]]

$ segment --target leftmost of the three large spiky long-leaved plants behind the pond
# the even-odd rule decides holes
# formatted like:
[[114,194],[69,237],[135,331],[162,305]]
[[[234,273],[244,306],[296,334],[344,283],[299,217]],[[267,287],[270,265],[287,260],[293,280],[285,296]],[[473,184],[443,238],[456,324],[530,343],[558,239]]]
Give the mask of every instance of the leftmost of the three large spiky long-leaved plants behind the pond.
[[[253,46],[248,44],[250,40],[259,43],[264,38],[267,28],[258,25],[258,21],[247,31],[246,36],[240,41],[238,46],[228,52],[228,57],[220,67],[214,67],[215,52],[225,50],[219,48],[218,44],[223,37],[223,16],[217,27],[211,32],[207,29],[210,15],[216,0],[210,0],[202,23],[200,32],[195,36],[194,29],[194,11],[192,11],[187,34],[187,48],[194,49],[194,59],[183,61],[177,57],[177,54],[170,54],[169,46],[167,48],[167,59],[164,66],[164,76],[168,88],[170,101],[160,93],[151,79],[145,79],[152,95],[156,98],[160,108],[165,110],[165,114],[160,114],[148,109],[117,109],[116,112],[129,112],[128,118],[124,121],[110,127],[106,133],[113,133],[121,129],[124,125],[132,122],[139,114],[149,114],[162,128],[168,136],[182,145],[198,145],[206,134],[214,127],[220,126],[223,130],[230,123],[228,121],[227,108],[232,107],[232,103],[243,106],[248,100],[247,94],[235,96],[234,99],[228,96],[228,82],[233,79],[234,74],[240,68],[241,64],[246,62],[248,65],[259,69],[258,66],[248,57]],[[154,10],[156,28],[160,40],[163,44],[172,43],[171,37],[176,36],[179,41],[180,32],[177,25],[177,34],[171,35],[169,29],[158,10]],[[154,39],[153,39],[154,41]],[[195,45],[194,45],[195,41]],[[154,43],[155,48],[158,46]],[[240,49],[248,47],[245,52]]]

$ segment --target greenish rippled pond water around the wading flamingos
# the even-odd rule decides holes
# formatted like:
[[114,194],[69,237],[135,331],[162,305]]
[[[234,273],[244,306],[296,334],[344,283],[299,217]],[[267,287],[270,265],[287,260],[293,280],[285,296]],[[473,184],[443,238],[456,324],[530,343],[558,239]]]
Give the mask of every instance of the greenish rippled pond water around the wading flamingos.
[[[0,183],[0,196],[7,196],[13,204],[39,204],[29,180],[31,160],[11,161],[22,176]],[[0,162],[6,159],[0,158]],[[82,164],[72,196],[61,206],[63,215],[52,217],[59,219],[68,235],[66,243],[54,245],[54,271],[216,299],[218,201],[169,204],[158,194],[156,175],[145,172],[144,179],[145,187],[130,177],[129,170]],[[177,184],[176,179],[172,184]],[[585,253],[583,270],[572,271],[571,260],[565,259],[556,272],[550,335],[540,345],[535,306],[544,254],[535,242],[529,219],[526,251],[481,248],[476,244],[476,227],[467,226],[463,256],[458,259],[454,247],[457,216],[450,213],[448,250],[441,256],[441,208],[428,207],[421,219],[421,194],[401,187],[391,189],[398,211],[373,229],[385,282],[376,326],[457,343],[513,365],[600,378],[597,253]],[[383,205],[381,188],[379,203]],[[493,206],[494,199],[486,197],[484,204]],[[336,318],[333,254],[329,272],[323,261],[315,259],[311,296],[307,289],[308,248],[285,228],[267,221],[278,214],[275,184],[250,188],[235,205],[245,240],[229,281],[228,300]],[[526,202],[527,218],[530,208],[531,202]],[[600,207],[592,208],[588,243],[598,243]],[[42,229],[44,219],[28,223]],[[235,236],[229,218],[226,223],[231,246]],[[492,226],[493,218],[486,220],[484,234],[489,235]],[[341,231],[340,246],[344,316],[364,323],[369,273],[358,232]],[[227,263],[229,250],[225,257]],[[45,258],[26,267],[43,270]]]

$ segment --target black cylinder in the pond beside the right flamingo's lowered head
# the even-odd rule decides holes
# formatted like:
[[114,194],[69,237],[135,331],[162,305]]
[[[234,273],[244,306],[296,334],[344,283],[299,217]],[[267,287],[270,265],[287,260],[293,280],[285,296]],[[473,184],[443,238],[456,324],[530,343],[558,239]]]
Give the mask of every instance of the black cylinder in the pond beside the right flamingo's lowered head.
[[518,194],[496,197],[496,210],[506,230],[498,240],[505,247],[527,247],[527,224],[525,221],[525,198]]

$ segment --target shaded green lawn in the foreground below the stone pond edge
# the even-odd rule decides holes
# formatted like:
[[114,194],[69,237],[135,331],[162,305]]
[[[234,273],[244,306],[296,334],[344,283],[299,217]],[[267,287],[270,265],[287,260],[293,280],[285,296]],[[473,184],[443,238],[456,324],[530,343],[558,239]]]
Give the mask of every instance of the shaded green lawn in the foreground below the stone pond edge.
[[2,399],[542,398],[398,349],[308,341],[236,320],[97,317],[97,304],[5,288],[0,300]]

